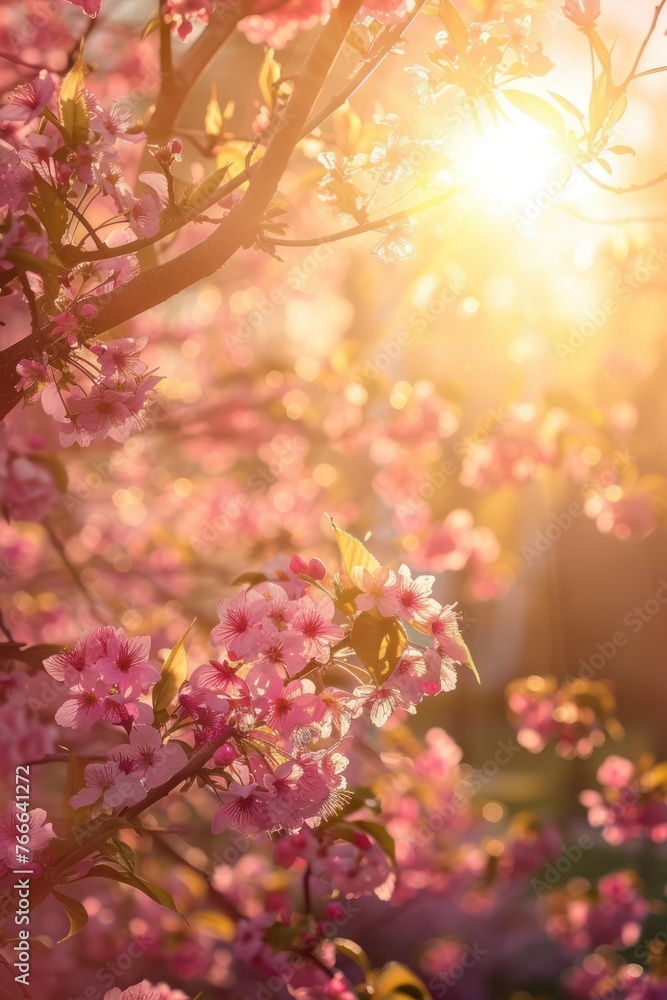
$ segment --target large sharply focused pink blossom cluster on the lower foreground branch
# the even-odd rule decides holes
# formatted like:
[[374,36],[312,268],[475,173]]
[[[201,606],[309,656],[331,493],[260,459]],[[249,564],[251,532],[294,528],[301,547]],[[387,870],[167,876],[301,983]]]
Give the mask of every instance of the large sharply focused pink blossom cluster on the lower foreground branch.
[[[414,713],[425,696],[455,686],[455,662],[470,662],[455,609],[431,596],[434,577],[413,578],[404,565],[397,573],[375,565],[352,536],[338,534],[342,547],[352,546],[366,563],[350,566],[347,588],[335,578],[327,590],[325,566],[295,556],[282,579],[221,599],[211,632],[218,658],[182,683],[166,720],[155,689],[154,710],[142,700],[159,679],[148,662],[148,636],[131,639],[123,629],[102,626],[45,661],[68,688],[57,723],[80,730],[106,719],[129,733],[129,746],[86,767],[73,806],[100,797],[106,809],[133,805],[147,787],[177,774],[187,760],[184,748],[194,753],[207,745],[206,776],[220,803],[214,833],[299,834],[337,813],[348,797],[343,741],[353,727],[358,731],[366,720],[379,727]],[[409,639],[407,629],[428,642]],[[341,686],[341,676],[353,683]],[[171,739],[164,742],[167,725]],[[382,884],[387,873],[373,860],[374,851],[381,852],[367,841],[355,850],[365,852],[365,877],[375,867]],[[350,864],[358,869],[349,854],[345,847],[341,873]]]

